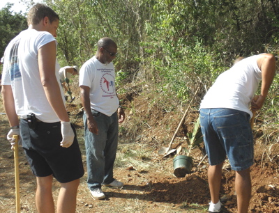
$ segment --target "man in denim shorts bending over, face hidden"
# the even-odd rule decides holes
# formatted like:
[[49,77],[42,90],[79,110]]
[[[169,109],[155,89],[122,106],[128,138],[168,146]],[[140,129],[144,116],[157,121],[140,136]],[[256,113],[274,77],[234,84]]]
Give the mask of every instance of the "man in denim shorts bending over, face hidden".
[[[250,56],[220,74],[200,105],[200,123],[209,157],[209,212],[220,212],[222,167],[226,156],[236,171],[238,212],[248,212],[251,196],[250,166],[253,164],[252,111],[262,108],[276,71],[272,54]],[[259,82],[261,94],[254,97]]]

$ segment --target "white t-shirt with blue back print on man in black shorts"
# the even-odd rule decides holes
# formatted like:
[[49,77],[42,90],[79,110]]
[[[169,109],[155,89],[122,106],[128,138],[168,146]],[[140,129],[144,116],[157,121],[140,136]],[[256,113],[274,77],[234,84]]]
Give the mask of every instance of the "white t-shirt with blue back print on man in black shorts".
[[[48,32],[27,29],[16,36],[5,50],[2,85],[12,86],[15,110],[20,118],[27,118],[27,114],[34,113],[36,118],[45,123],[59,121],[47,101],[38,70],[38,49],[52,41],[56,42]],[[57,68],[55,73],[59,82]],[[57,95],[63,97],[61,86],[60,92]]]

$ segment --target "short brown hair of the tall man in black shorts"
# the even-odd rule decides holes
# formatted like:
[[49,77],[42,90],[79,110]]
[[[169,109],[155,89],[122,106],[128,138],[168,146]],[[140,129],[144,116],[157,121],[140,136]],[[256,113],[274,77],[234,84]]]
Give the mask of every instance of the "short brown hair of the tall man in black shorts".
[[36,3],[29,10],[27,15],[27,24],[39,24],[44,17],[48,17],[48,19],[50,19],[50,23],[59,20],[59,15],[57,15],[52,8],[43,3]]

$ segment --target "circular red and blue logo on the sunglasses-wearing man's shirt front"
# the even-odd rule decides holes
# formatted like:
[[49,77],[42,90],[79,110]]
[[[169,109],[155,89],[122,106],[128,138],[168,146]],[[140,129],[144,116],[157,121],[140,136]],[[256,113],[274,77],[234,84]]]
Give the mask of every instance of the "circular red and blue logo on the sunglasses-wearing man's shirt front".
[[109,97],[115,95],[115,85],[114,85],[114,77],[108,70],[102,70],[102,77],[100,78],[100,88],[107,95],[103,95],[103,97]]

